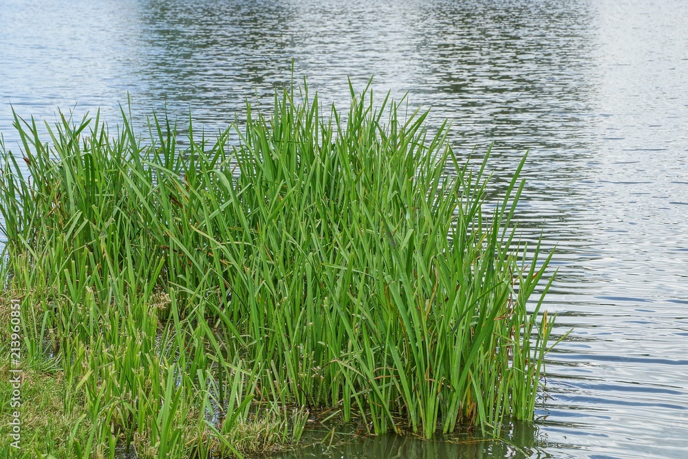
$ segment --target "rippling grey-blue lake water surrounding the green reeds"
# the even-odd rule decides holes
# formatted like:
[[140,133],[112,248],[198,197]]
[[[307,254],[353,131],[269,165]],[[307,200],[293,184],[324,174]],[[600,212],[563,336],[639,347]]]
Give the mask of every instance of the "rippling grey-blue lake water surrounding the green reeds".
[[515,446],[383,436],[280,457],[688,458],[688,2],[3,0],[0,132],[15,149],[10,103],[114,126],[127,92],[139,120],[166,106],[212,131],[246,97],[269,109],[292,59],[325,102],[374,76],[450,118],[458,151],[494,142],[497,186],[530,149],[519,221],[557,246],[546,306],[573,331]]

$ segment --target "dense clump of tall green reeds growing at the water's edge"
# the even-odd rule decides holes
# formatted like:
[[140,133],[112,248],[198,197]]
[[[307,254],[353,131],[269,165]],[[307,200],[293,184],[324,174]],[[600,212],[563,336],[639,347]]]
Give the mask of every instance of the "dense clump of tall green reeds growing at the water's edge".
[[157,119],[147,144],[96,116],[48,146],[16,118],[3,304],[21,299],[24,366],[76,418],[37,450],[241,456],[299,440],[322,408],[425,438],[533,417],[551,324],[526,302],[549,257],[513,250],[523,183],[486,216],[485,163],[368,96],[344,122],[284,91],[213,142],[189,126],[183,152]]

